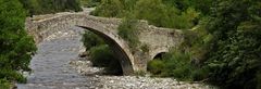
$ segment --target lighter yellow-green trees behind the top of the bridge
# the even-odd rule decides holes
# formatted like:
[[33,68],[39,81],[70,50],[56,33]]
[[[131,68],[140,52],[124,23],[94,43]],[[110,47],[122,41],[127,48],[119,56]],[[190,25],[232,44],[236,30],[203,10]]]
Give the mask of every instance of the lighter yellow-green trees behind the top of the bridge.
[[188,29],[195,26],[199,13],[194,8],[182,11],[162,0],[102,0],[92,15],[147,20],[159,27]]

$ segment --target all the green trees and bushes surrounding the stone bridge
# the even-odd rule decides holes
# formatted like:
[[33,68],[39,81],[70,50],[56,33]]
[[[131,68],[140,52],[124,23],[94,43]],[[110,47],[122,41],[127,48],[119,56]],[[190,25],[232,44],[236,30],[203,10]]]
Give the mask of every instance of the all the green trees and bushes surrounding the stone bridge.
[[[148,63],[153,77],[221,89],[261,89],[260,0],[0,0],[0,88],[26,82],[20,72],[30,71],[28,64],[37,50],[24,29],[26,16],[95,7],[91,15],[123,18],[119,35],[132,49],[139,43],[138,20],[184,33],[179,47]],[[121,75],[121,65],[104,40],[87,31],[83,41],[96,66]]]

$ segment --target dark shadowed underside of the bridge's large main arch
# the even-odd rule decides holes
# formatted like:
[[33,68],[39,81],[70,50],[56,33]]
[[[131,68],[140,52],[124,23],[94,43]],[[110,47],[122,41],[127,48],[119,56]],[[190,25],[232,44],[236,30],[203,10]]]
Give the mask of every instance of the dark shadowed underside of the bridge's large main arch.
[[130,75],[134,73],[133,64],[130,62],[129,56],[113,38],[90,27],[86,27],[86,26],[77,26],[77,27],[82,27],[84,29],[95,33],[96,35],[101,37],[110,46],[111,49],[113,49],[115,58],[117,58],[119,62],[121,63],[123,75]]

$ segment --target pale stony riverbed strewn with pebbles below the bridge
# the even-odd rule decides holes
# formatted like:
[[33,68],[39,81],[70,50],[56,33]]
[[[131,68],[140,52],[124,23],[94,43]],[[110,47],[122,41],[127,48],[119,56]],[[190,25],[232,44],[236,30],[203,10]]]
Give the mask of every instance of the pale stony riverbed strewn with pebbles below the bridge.
[[99,81],[98,88],[104,89],[213,89],[214,87],[177,81],[174,78],[154,78],[149,76],[105,76],[102,68],[92,67],[88,60],[77,60],[70,63],[79,74],[92,76]]

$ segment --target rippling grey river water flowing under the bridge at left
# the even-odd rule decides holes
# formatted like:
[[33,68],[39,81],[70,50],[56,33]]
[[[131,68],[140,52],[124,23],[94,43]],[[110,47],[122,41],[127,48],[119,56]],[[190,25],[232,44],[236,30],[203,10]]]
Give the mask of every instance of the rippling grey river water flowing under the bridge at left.
[[92,77],[83,76],[70,66],[84,49],[80,33],[82,28],[72,27],[39,43],[30,63],[33,73],[27,77],[27,84],[18,84],[17,88],[86,89],[95,85]]

